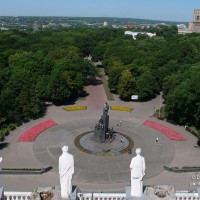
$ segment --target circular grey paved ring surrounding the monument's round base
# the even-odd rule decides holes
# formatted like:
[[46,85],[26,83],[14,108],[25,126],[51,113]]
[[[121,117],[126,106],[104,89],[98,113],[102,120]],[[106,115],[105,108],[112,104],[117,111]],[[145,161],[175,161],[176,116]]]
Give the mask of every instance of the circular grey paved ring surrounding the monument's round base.
[[[74,139],[84,132],[93,131],[97,121],[98,119],[74,120],[48,129],[33,144],[35,157],[42,165],[52,165],[53,170],[58,172],[61,147],[68,145],[69,152],[74,155],[75,160],[73,182],[80,187],[84,185],[85,190],[89,190],[93,184],[102,184],[104,187],[109,187],[110,184],[128,184],[130,182],[129,165],[137,147],[142,148],[142,155],[146,159],[147,169],[144,179],[160,174],[163,171],[163,165],[170,164],[174,158],[174,146],[164,135],[144,125],[128,121],[122,121],[121,126],[116,126],[118,120],[110,120],[110,127],[132,138],[133,154],[96,156],[80,151],[74,145]],[[158,136],[159,142],[156,143]]]

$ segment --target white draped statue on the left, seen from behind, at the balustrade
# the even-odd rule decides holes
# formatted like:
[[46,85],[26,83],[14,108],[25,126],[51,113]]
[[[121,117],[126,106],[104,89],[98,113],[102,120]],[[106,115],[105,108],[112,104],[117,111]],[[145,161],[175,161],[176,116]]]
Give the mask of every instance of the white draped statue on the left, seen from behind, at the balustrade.
[[62,155],[59,157],[59,175],[61,185],[61,198],[69,199],[72,193],[72,174],[74,173],[74,157],[68,153],[68,146],[62,148]]

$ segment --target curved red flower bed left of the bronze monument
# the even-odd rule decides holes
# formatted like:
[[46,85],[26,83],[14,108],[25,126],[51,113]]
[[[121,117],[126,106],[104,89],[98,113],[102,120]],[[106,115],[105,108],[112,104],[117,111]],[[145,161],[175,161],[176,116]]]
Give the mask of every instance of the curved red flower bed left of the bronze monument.
[[18,142],[32,142],[34,141],[38,135],[40,135],[44,130],[48,129],[49,127],[57,125],[56,122],[53,120],[47,120],[40,124],[33,126],[32,128],[28,129],[27,131],[23,132],[18,139]]

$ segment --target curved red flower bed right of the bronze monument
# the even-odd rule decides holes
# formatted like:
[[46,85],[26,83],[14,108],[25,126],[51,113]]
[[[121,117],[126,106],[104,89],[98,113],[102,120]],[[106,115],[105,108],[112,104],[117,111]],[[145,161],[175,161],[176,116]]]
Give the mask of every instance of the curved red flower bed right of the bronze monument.
[[156,122],[147,120],[146,122],[144,122],[144,125],[163,133],[171,140],[186,140],[186,138],[183,137],[180,133],[178,133],[170,128],[167,128],[164,125],[158,124]]

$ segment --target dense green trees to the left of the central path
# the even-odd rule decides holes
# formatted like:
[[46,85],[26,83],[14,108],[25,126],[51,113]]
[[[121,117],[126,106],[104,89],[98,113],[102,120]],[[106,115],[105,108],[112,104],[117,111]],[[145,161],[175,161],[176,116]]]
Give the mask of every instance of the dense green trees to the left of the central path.
[[83,95],[84,85],[98,75],[72,33],[76,31],[0,32],[2,135],[13,123],[42,116],[45,102],[67,103]]

